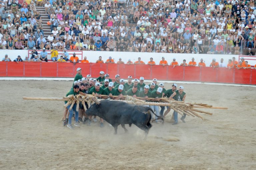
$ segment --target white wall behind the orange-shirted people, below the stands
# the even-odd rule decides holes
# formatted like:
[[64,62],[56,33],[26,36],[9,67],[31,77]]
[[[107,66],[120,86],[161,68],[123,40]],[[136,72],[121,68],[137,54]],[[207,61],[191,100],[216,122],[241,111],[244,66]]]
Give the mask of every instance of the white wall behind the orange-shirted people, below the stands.
[[[77,55],[79,59],[82,59],[81,51],[75,51],[77,53],[80,53],[80,55]],[[40,52],[39,52],[40,53]],[[49,53],[49,52],[48,52]],[[60,51],[59,53],[62,53]],[[73,53],[73,51],[69,51],[70,56]],[[1,59],[4,58],[5,54],[8,54],[8,56],[13,61],[15,58],[17,58],[18,55],[21,56],[21,58],[25,58],[26,55],[28,55],[28,50],[1,50]],[[215,58],[217,62],[220,62],[220,59],[223,58],[224,62],[227,63],[228,59],[232,59],[232,57],[236,57],[236,60],[238,60],[238,55],[215,55],[215,54],[173,54],[173,53],[136,53],[136,52],[112,52],[112,51],[83,51],[83,57],[87,56],[87,60],[89,62],[96,62],[96,60],[99,58],[99,56],[102,56],[103,61],[105,62],[109,56],[111,56],[115,62],[118,61],[119,58],[122,58],[122,61],[125,63],[128,61],[128,59],[131,59],[132,62],[135,62],[138,60],[138,57],[141,57],[141,60],[147,63],[149,61],[149,58],[152,57],[156,64],[159,64],[159,61],[162,59],[162,57],[165,57],[165,60],[167,60],[168,64],[170,64],[173,60],[173,58],[176,58],[176,61],[180,64],[182,63],[182,60],[185,59],[187,63],[191,61],[191,58],[195,58],[195,61],[198,63],[200,62],[200,59],[204,59],[206,66],[209,66],[212,62],[212,59]],[[50,59],[50,55],[47,57]],[[249,59],[249,58],[248,58]],[[252,59],[252,58],[250,58]],[[253,58],[255,60],[248,60],[248,63],[252,66],[256,64],[256,56]],[[246,60],[246,57],[245,57]]]

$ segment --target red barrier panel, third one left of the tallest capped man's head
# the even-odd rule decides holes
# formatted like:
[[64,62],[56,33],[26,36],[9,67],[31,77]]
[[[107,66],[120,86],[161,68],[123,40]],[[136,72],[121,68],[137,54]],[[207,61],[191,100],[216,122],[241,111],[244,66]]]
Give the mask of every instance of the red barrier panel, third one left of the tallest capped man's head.
[[40,77],[39,62],[25,62],[25,77]]

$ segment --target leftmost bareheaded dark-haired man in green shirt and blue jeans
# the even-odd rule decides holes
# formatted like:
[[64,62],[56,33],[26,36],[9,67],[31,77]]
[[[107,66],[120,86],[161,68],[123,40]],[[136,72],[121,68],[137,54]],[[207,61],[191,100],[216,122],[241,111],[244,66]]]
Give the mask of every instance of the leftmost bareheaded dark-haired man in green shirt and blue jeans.
[[[66,96],[68,95],[78,95],[79,92],[79,85],[74,85],[74,87],[68,91],[68,93],[66,94]],[[65,101],[65,104],[67,103],[67,101]],[[69,110],[69,108],[71,107],[71,104],[67,106],[67,109]],[[69,110],[69,117],[68,117],[68,125],[67,127],[70,129],[74,129],[73,126],[71,125],[71,121],[72,121],[72,117],[73,117],[73,112],[75,112],[75,119],[76,119],[76,123],[74,124],[74,126],[80,127],[80,125],[78,124],[78,112],[76,111],[76,103],[73,105],[73,107],[71,108],[71,110]],[[66,115],[64,113],[64,120],[66,121]]]

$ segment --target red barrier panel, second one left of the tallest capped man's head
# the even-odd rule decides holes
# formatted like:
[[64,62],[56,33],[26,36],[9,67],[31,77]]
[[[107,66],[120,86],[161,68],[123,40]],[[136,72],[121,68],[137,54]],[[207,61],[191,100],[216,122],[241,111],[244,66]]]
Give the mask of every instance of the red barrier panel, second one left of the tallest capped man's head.
[[42,77],[57,77],[57,63],[42,62],[41,68]]

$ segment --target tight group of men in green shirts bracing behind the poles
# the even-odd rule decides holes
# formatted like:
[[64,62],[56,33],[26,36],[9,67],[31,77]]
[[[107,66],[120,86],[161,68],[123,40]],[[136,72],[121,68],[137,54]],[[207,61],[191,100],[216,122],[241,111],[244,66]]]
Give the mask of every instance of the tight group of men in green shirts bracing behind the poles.
[[[185,101],[186,93],[183,91],[183,86],[177,86],[177,84],[173,84],[171,89],[166,90],[164,88],[164,83],[159,83],[157,85],[157,79],[154,78],[153,81],[146,85],[144,83],[144,77],[140,77],[139,79],[132,79],[132,76],[128,76],[127,82],[124,79],[121,79],[120,75],[115,75],[115,82],[113,82],[109,78],[109,74],[105,74],[104,71],[100,71],[100,76],[97,79],[92,78],[91,75],[87,75],[86,77],[82,76],[82,69],[77,68],[77,74],[74,78],[74,84],[72,88],[68,91],[66,96],[77,94],[86,95],[86,94],[95,94],[95,97],[99,99],[112,99],[112,100],[125,100],[126,95],[132,96],[134,98],[150,101],[150,102],[159,102],[161,97],[168,97],[171,100],[177,101]],[[65,102],[67,103],[67,102]],[[88,109],[88,104],[86,103],[86,108]],[[83,122],[84,124],[88,123],[91,125],[92,116],[87,116],[85,113],[84,106],[82,104],[79,105],[79,111],[76,111],[76,104],[73,105],[72,109],[70,109],[71,105],[64,110],[64,120],[63,125],[67,125],[70,129],[74,127],[71,124],[73,112],[75,112],[75,124],[74,126],[80,127],[79,123]],[[143,107],[143,106],[141,106]],[[158,117],[165,117],[170,108],[167,107],[167,110],[164,113],[165,107],[160,106],[161,110],[159,111],[159,106],[149,106]],[[174,123],[176,125],[178,123],[178,113],[174,111]],[[68,118],[67,118],[68,117]],[[186,115],[181,117],[182,122],[185,123]],[[152,114],[153,118],[153,114]],[[93,118],[94,122],[97,122],[96,116]],[[156,123],[160,123],[161,120],[156,120]],[[103,127],[103,119],[100,119],[100,127]]]

